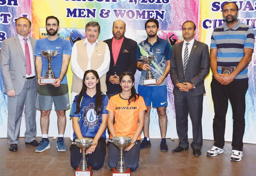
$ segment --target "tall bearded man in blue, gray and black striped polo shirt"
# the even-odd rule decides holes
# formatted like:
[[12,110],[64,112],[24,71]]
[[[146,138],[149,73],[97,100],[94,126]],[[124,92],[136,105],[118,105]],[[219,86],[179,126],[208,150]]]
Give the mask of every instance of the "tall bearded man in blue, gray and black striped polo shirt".
[[248,89],[248,64],[254,49],[251,26],[241,23],[238,6],[228,2],[222,8],[224,24],[213,30],[210,58],[213,73],[211,89],[215,116],[213,136],[215,143],[207,151],[214,157],[223,153],[228,99],[233,111],[233,139],[231,161],[241,161],[245,131],[245,94]]

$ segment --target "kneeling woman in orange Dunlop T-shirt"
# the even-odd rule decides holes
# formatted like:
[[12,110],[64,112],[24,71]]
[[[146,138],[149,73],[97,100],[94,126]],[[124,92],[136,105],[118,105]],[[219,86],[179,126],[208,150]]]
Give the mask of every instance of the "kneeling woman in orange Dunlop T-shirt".
[[[123,72],[120,75],[122,92],[111,96],[107,110],[109,111],[107,126],[110,131],[110,141],[114,136],[132,137],[132,143],[124,150],[124,160],[131,171],[139,166],[140,133],[144,126],[146,105],[142,96],[135,92],[134,74]],[[113,120],[115,123],[113,124]],[[109,167],[116,167],[119,159],[119,149],[113,143],[109,145]]]

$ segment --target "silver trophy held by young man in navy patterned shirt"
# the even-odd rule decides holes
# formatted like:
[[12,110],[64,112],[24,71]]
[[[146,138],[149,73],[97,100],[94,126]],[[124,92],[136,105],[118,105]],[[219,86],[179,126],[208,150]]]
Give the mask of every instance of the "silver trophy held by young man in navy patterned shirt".
[[[142,60],[142,62],[147,63],[148,65],[150,65],[151,61],[154,60],[155,58],[157,58],[154,55],[147,55],[147,56],[140,56],[139,60]],[[151,70],[147,70],[147,76],[146,76],[146,80],[144,80],[144,84],[143,85],[154,85],[157,84],[157,80],[156,78],[154,78]]]

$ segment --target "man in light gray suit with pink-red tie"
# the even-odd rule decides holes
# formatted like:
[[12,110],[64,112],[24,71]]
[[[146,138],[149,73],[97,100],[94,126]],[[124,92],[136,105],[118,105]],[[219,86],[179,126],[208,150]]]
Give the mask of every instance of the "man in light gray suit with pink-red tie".
[[[15,21],[17,35],[3,41],[1,72],[8,96],[7,137],[10,151],[17,151],[21,117],[25,105],[25,143],[38,146],[36,136],[37,77],[33,55],[36,39],[29,37],[31,22],[26,17]],[[27,60],[27,61],[26,61]]]

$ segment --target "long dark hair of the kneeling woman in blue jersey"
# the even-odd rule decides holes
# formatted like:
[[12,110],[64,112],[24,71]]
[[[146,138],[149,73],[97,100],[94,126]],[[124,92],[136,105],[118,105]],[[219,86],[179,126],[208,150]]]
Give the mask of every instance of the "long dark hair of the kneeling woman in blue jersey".
[[[95,70],[87,70],[84,72],[84,78],[83,78],[83,86],[82,86],[82,89],[78,95],[78,98],[76,100],[77,104],[76,104],[76,112],[75,114],[78,114],[80,113],[80,103],[81,103],[81,99],[84,95],[84,93],[86,92],[86,85],[84,83],[84,80],[85,80],[85,77],[88,73],[92,73],[94,74],[94,76],[96,77],[97,80],[99,80],[99,75],[98,73],[95,71]],[[95,112],[96,112],[96,115],[99,115],[100,112],[102,111],[103,109],[103,101],[102,101],[102,92],[100,90],[100,80],[99,82],[96,84],[96,100],[95,100]]]

